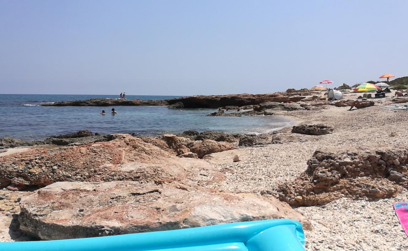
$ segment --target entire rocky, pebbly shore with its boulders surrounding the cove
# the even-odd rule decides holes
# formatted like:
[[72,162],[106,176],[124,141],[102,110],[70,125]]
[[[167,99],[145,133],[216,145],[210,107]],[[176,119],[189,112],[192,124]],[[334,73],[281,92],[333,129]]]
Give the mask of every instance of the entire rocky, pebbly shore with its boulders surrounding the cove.
[[[9,222],[3,240],[290,218],[302,222],[307,250],[408,249],[392,209],[408,200],[406,116],[379,109],[401,99],[347,111],[355,93],[335,102],[306,90],[273,96],[251,104],[252,96],[228,104],[220,96],[211,108],[291,116],[293,127],[261,135],[80,131],[36,142],[0,139],[0,216]],[[293,97],[300,99],[273,101]],[[205,107],[208,100],[173,104]]]

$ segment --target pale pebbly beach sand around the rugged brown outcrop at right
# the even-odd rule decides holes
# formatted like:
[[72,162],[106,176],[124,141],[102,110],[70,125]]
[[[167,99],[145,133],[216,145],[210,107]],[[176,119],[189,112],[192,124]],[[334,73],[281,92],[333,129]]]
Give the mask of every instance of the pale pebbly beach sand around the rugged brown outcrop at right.
[[[390,96],[390,94],[388,94]],[[346,99],[357,98],[346,94]],[[323,106],[315,111],[282,112],[305,124],[323,123],[333,134],[313,136],[282,130],[284,144],[247,147],[241,162],[212,160],[213,167],[228,169],[226,181],[214,188],[235,192],[272,191],[306,170],[306,161],[317,149],[381,147],[408,142],[408,111],[379,109],[390,98],[374,100],[375,106],[347,111],[349,107]],[[403,105],[403,104],[399,104]],[[397,136],[389,136],[391,132]],[[301,142],[307,140],[306,142]],[[227,153],[224,153],[227,156]],[[404,189],[395,198],[367,202],[343,198],[324,206],[299,207],[313,224],[306,231],[307,250],[408,250],[408,238],[393,210],[393,203],[408,201]]]

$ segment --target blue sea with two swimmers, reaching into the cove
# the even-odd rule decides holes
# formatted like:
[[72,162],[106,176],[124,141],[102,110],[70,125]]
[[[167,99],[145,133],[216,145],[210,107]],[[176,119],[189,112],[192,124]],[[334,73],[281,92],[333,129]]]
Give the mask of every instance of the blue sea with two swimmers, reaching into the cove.
[[[126,99],[163,100],[179,96],[132,96]],[[162,135],[186,130],[259,134],[290,126],[283,116],[206,116],[216,109],[169,109],[164,106],[44,107],[41,104],[119,98],[118,95],[20,95],[0,94],[0,138],[44,140],[52,135],[89,130],[93,133]],[[118,112],[111,115],[112,108]],[[106,115],[100,115],[102,110]]]

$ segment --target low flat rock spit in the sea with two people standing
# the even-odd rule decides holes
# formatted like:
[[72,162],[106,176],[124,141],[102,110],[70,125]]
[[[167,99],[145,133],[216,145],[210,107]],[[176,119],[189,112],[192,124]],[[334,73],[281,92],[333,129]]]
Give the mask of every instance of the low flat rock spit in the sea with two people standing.
[[61,101],[54,103],[42,104],[42,106],[97,106],[97,107],[111,107],[111,106],[148,106],[148,105],[167,105],[167,100],[126,100],[126,99],[112,99],[112,98],[93,98],[89,100],[73,100]]

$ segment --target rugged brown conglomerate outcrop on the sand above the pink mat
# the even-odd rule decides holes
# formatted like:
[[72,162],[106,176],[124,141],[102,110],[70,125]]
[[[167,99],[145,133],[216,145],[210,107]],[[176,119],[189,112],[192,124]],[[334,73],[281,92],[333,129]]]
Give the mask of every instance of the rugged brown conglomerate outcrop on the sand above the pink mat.
[[316,151],[305,173],[279,187],[279,199],[291,206],[313,206],[342,196],[389,198],[407,185],[407,159],[407,148]]

